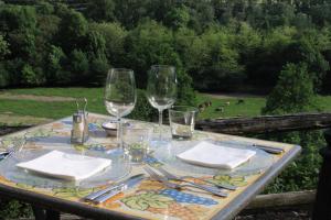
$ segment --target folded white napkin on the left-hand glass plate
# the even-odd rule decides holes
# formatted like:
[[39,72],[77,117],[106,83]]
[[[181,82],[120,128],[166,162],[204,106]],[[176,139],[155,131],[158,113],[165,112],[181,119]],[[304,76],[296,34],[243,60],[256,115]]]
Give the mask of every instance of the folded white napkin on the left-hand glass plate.
[[67,180],[82,180],[102,172],[111,160],[52,151],[18,167]]

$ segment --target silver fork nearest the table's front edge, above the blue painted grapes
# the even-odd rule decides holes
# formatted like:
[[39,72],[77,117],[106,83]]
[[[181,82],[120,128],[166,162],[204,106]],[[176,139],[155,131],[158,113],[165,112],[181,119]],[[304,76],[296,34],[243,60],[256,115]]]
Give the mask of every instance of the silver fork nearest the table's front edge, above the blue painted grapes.
[[182,184],[182,185],[180,185],[180,184],[170,183],[167,177],[160,176],[152,168],[147,167],[147,166],[143,167],[143,168],[150,175],[151,178],[153,178],[153,179],[156,179],[158,182],[161,182],[164,186],[167,186],[169,188],[182,189],[184,187],[191,187],[191,188],[197,188],[197,189],[211,193],[211,194],[213,194],[215,196],[227,197],[227,194],[224,193],[224,191],[220,191],[220,190],[216,190],[216,189],[213,189],[213,188],[210,188],[210,187],[205,187],[205,186],[202,186],[202,185],[199,185],[199,184],[194,184],[194,185]]

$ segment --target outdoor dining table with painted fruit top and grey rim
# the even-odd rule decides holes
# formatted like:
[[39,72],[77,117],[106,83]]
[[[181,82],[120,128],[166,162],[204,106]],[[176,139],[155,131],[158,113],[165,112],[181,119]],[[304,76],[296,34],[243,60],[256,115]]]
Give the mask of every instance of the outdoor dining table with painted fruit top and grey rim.
[[[95,151],[109,153],[115,147],[116,140],[106,136],[102,124],[109,117],[89,113],[88,128],[89,140],[83,145],[71,144],[72,117],[51,122],[49,124],[30,128],[24,131],[0,138],[0,147],[15,147],[24,151],[39,152],[46,147],[71,147],[75,151]],[[153,123],[127,120],[135,128],[152,128]],[[167,125],[163,133],[170,132]],[[217,197],[199,190],[177,190],[167,188],[162,183],[146,178],[134,188],[125,190],[107,201],[95,205],[82,200],[82,197],[109,185],[86,187],[45,187],[8,178],[6,170],[0,170],[0,196],[14,198],[44,209],[68,212],[95,219],[232,219],[248,202],[260,193],[300,152],[301,147],[292,144],[248,139],[235,135],[195,131],[192,140],[182,141],[199,142],[201,140],[220,141],[232,144],[260,144],[284,148],[281,154],[268,154],[271,164],[267,168],[253,173],[220,173],[205,175],[201,178],[220,184],[237,186],[236,190],[228,191],[228,197]],[[181,141],[177,141],[180,143]],[[162,146],[160,146],[162,147]],[[0,162],[3,163],[6,160]],[[149,160],[149,158],[148,158]],[[162,162],[151,157],[149,163],[163,166]],[[143,173],[143,165],[134,165],[125,177]],[[175,169],[173,169],[175,170]],[[184,174],[192,175],[190,170]],[[195,179],[196,180],[196,179]],[[196,180],[199,182],[199,180]],[[184,198],[184,199],[183,199]]]

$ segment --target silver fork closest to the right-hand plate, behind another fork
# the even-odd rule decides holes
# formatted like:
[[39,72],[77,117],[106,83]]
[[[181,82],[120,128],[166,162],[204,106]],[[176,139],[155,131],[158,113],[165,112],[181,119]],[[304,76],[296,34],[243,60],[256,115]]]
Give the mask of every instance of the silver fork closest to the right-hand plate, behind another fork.
[[194,185],[195,184],[194,182],[190,182],[190,180],[185,179],[185,178],[193,178],[193,179],[197,179],[197,180],[201,180],[201,182],[204,182],[204,183],[212,184],[213,186],[216,186],[218,188],[224,188],[224,189],[228,189],[228,190],[236,190],[237,189],[236,186],[233,186],[233,185],[229,185],[229,184],[217,184],[217,183],[214,183],[214,182],[211,182],[211,180],[207,180],[207,179],[197,178],[197,177],[194,177],[194,176],[177,176],[174,174],[171,174],[171,173],[167,172],[161,166],[154,167],[154,168],[158,169],[161,174],[163,174],[168,179],[173,179],[173,180],[178,180],[178,182],[185,182],[188,184]]

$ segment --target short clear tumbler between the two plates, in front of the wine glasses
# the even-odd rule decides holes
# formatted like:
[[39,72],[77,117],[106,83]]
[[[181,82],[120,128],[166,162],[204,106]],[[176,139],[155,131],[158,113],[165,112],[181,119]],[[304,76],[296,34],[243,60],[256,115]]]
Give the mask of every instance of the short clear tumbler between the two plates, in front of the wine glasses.
[[128,129],[124,145],[131,163],[142,163],[150,150],[151,129]]

